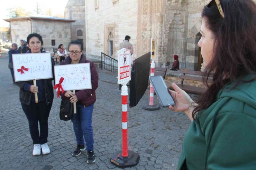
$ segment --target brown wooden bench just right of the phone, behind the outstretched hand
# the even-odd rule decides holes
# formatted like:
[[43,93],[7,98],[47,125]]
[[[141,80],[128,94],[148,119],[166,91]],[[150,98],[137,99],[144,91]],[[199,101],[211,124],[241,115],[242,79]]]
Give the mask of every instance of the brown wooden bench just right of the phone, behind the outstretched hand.
[[[177,84],[177,86],[179,86],[182,90],[188,93],[195,93],[195,94],[202,94],[207,90],[207,88],[195,87],[195,86],[183,84],[184,79],[203,82],[203,74],[204,74],[203,72],[193,71],[193,70],[181,70],[181,72],[183,73],[183,75],[180,76],[181,83]],[[212,83],[212,77],[209,77],[208,83]]]

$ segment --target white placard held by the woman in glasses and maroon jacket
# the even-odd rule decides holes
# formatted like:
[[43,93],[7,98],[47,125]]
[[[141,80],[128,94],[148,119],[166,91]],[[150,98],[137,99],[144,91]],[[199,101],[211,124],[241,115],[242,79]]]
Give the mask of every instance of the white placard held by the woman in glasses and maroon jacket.
[[54,76],[55,84],[64,78],[61,83],[64,91],[92,88],[90,63],[54,66]]

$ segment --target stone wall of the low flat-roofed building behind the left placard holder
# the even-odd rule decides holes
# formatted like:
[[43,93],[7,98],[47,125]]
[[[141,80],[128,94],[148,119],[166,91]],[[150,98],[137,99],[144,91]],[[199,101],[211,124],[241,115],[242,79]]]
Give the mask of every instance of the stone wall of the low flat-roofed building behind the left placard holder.
[[[44,47],[58,48],[59,44],[63,44],[67,49],[71,40],[70,22],[32,20],[32,32],[42,36]],[[52,46],[52,40],[55,40],[55,46]]]

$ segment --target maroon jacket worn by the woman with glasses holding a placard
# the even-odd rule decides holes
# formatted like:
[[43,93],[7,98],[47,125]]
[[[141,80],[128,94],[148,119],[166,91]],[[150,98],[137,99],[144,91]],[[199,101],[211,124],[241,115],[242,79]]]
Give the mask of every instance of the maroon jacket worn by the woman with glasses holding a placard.
[[[82,103],[84,106],[90,106],[96,101],[96,93],[95,90],[98,88],[99,76],[97,70],[94,66],[94,63],[86,60],[86,56],[84,54],[81,55],[81,59],[79,63],[90,63],[91,67],[91,81],[92,81],[92,89],[86,90],[76,90],[75,95],[78,99],[78,103]],[[60,63],[60,65],[71,64],[71,58],[68,56],[64,61]],[[63,93],[61,93],[62,99],[67,99]]]

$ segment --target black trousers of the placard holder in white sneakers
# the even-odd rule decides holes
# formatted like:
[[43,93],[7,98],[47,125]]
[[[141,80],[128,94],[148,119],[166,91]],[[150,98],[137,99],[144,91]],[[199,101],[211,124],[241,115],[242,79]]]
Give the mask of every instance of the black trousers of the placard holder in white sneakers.
[[[33,144],[47,143],[48,138],[48,117],[53,103],[47,105],[46,101],[38,103],[30,102],[29,105],[21,103],[21,107],[26,114],[29,124],[29,131]],[[40,126],[40,134],[38,130]]]

